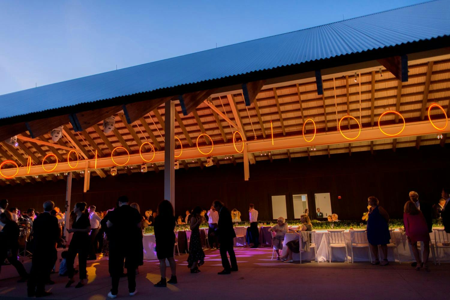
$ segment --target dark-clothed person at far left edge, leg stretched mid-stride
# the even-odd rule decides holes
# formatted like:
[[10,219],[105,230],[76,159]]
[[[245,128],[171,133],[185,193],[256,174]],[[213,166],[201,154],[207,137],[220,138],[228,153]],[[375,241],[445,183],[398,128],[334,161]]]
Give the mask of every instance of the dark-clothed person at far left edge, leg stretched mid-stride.
[[16,268],[20,277],[22,277],[18,282],[25,282],[28,278],[27,271],[23,268],[23,264],[17,260],[19,251],[19,226],[11,220],[11,213],[6,210],[0,214],[0,222],[5,224],[3,230],[0,232],[0,262],[8,259],[9,263]]

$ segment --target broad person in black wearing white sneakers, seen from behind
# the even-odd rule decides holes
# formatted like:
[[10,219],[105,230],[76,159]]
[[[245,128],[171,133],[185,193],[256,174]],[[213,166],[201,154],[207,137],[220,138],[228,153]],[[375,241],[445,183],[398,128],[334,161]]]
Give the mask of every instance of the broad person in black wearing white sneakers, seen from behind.
[[137,293],[136,268],[143,264],[142,217],[137,209],[128,205],[126,196],[119,197],[118,202],[119,207],[108,213],[106,222],[109,239],[109,273],[112,281],[108,297],[112,299],[117,298],[124,260],[130,296]]

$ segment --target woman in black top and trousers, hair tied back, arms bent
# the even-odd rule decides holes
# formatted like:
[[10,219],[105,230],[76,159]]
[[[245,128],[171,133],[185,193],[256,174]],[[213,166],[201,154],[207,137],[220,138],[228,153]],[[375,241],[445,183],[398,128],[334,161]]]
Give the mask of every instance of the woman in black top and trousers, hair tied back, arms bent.
[[76,288],[83,287],[85,280],[87,279],[86,263],[87,255],[89,252],[89,232],[90,221],[89,217],[84,213],[86,208],[85,202],[78,202],[73,208],[75,219],[72,224],[72,228],[68,229],[68,233],[73,233],[72,240],[70,241],[69,249],[67,251],[67,276],[69,282],[66,287],[70,287],[75,280],[73,279],[74,269],[73,263],[78,253],[78,264],[80,266],[80,282],[75,286]]

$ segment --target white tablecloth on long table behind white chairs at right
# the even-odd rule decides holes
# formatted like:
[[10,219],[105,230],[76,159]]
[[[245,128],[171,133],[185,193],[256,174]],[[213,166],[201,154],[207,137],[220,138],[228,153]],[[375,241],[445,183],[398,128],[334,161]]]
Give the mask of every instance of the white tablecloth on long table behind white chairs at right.
[[[328,231],[327,230],[316,230],[315,232],[315,242],[317,246],[317,261],[325,262],[329,261],[329,247],[328,247]],[[394,231],[394,236],[398,244],[398,253],[401,261],[414,261],[410,248],[408,246],[408,241],[406,240],[405,232],[396,229]],[[351,238],[350,232],[347,230],[344,232],[344,237],[347,244],[348,260],[351,261]],[[434,231],[430,233],[431,241],[434,243]],[[287,254],[286,243],[298,238],[295,233],[286,233],[284,237],[284,246],[282,255]],[[398,260],[397,252],[395,248],[389,247],[387,250],[387,259],[390,261]],[[344,261],[346,256],[345,248],[333,248],[333,261]],[[430,250],[430,261],[432,260],[432,251]],[[380,249],[381,253],[381,249]],[[369,261],[369,254],[367,248],[353,248],[354,261]],[[372,253],[371,253],[372,255]],[[437,253],[436,253],[437,255]],[[439,249],[439,258],[441,261],[450,261],[450,249]],[[374,259],[374,257],[372,257]],[[293,260],[300,260],[300,255],[293,253]],[[302,253],[302,260],[315,260],[314,249],[311,248],[310,252]]]

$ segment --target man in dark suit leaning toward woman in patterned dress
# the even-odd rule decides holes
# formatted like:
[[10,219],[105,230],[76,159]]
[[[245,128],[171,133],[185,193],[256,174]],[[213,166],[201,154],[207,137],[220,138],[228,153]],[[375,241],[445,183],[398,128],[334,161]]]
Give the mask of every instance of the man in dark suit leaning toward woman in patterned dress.
[[[232,271],[238,270],[238,263],[236,261],[236,255],[233,249],[233,238],[236,237],[234,232],[233,222],[231,220],[231,213],[224,206],[224,204],[218,200],[212,202],[212,206],[219,212],[219,221],[217,222],[216,235],[218,236],[220,243],[220,258],[222,259],[223,271],[217,273],[219,275],[229,274]],[[228,252],[229,260],[226,255]],[[231,262],[231,267],[230,267]]]

